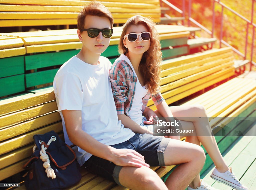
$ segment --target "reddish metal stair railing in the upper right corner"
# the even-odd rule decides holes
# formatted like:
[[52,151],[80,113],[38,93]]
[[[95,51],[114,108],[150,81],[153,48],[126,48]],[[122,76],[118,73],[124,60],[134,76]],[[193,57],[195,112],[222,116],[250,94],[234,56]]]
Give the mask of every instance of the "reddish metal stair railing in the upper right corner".
[[[213,1],[213,6],[212,6],[212,30],[210,31],[209,29],[207,29],[206,27],[202,26],[200,23],[198,23],[196,20],[194,20],[191,17],[191,12],[192,12],[192,0],[188,0],[188,26],[191,26],[191,23],[195,24],[196,26],[200,27],[201,29],[203,29],[204,31],[206,31],[209,35],[211,35],[211,37],[214,37],[214,24],[215,24],[215,4],[219,4],[221,5],[221,29],[220,29],[220,48],[222,46],[222,44],[224,44],[225,46],[231,47],[232,50],[237,53],[238,55],[240,55],[241,57],[243,57],[244,59],[247,58],[247,46],[248,46],[248,33],[249,33],[249,27],[252,26],[252,46],[251,46],[251,56],[250,56],[250,71],[252,69],[252,65],[256,66],[256,63],[252,60],[253,59],[253,50],[254,50],[254,38],[255,38],[255,27],[256,24],[253,23],[253,10],[254,10],[254,3],[256,3],[256,0],[252,0],[252,13],[251,13],[251,20],[248,20],[247,18],[245,18],[244,16],[240,15],[239,13],[237,13],[236,11],[234,11],[233,9],[231,9],[230,7],[228,7],[227,5],[225,5],[224,3],[220,2],[220,0],[212,0]],[[172,3],[170,3],[167,0],[161,0],[161,2],[165,3],[166,5],[168,5],[169,7],[173,8],[174,10],[176,10],[178,13],[182,14],[183,17],[185,17],[185,12],[186,12],[186,1],[182,0],[182,9],[180,10],[178,7],[174,6]],[[246,42],[245,42],[245,51],[244,54],[242,52],[240,52],[238,49],[234,48],[233,46],[231,46],[230,44],[228,44],[226,41],[223,40],[223,11],[224,8],[229,10],[230,12],[232,12],[233,14],[237,15],[238,17],[240,17],[241,19],[243,19],[244,21],[247,22],[247,28],[246,28]],[[184,20],[182,21],[182,24],[184,25]]]

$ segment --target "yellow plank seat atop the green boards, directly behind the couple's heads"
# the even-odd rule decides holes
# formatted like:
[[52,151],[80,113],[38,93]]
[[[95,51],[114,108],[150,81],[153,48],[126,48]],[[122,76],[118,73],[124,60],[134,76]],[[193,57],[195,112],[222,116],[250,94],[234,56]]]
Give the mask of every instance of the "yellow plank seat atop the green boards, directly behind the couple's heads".
[[[157,25],[156,28],[161,40],[188,38],[190,34],[188,27],[184,26]],[[118,44],[122,32],[122,27],[114,27],[113,29],[114,33],[110,40],[110,46]],[[76,30],[0,33],[0,37],[16,37],[16,39],[0,41],[0,58],[26,53],[81,49],[82,44],[77,37]]]

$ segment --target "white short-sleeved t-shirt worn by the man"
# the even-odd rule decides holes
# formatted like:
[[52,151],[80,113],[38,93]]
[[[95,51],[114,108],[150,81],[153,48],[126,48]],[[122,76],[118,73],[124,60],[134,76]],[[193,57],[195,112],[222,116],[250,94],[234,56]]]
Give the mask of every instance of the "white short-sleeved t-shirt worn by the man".
[[[103,144],[118,144],[135,135],[124,128],[117,117],[109,81],[111,62],[102,56],[99,62],[91,65],[74,56],[61,66],[54,78],[54,93],[68,145],[73,143],[68,138],[61,112],[65,109],[81,110],[82,130]],[[75,152],[80,166],[92,155],[80,147]]]

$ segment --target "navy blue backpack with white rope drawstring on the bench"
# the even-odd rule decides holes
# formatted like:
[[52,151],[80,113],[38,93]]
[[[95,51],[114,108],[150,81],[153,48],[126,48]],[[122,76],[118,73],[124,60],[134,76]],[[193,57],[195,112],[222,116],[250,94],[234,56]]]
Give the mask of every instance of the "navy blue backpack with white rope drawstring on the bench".
[[33,136],[32,157],[23,166],[28,170],[25,186],[28,190],[58,190],[81,180],[76,154],[56,132]]

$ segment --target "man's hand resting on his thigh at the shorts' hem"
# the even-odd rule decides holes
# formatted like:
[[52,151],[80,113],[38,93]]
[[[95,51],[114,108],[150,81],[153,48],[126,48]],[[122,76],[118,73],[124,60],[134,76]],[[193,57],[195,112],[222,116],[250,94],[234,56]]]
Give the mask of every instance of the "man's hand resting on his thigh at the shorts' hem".
[[149,165],[145,162],[144,156],[130,149],[113,149],[110,161],[119,166],[141,167]]

